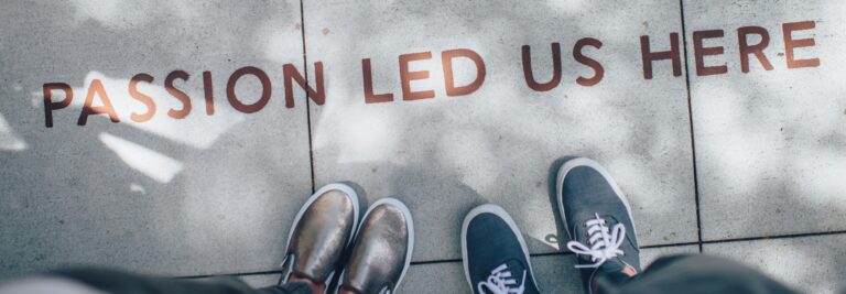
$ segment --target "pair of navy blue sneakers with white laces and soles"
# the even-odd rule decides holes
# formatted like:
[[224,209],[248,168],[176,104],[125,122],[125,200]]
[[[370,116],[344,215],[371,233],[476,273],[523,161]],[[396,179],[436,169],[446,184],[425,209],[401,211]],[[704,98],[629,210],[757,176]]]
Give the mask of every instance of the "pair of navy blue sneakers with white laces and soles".
[[[567,248],[587,293],[598,273],[640,272],[634,224],[626,196],[607,171],[588,159],[558,168],[556,199],[568,235]],[[529,250],[514,221],[501,207],[474,208],[462,225],[462,258],[476,294],[539,293]]]

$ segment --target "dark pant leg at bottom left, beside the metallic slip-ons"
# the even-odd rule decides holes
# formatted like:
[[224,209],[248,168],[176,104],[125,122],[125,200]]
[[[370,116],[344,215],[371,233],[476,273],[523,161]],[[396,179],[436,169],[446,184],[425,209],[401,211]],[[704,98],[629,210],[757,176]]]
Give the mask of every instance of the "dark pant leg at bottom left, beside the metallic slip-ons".
[[115,294],[311,294],[311,290],[304,283],[253,290],[231,276],[194,281],[152,277],[106,269],[70,269],[55,271],[48,275],[70,279],[93,288]]

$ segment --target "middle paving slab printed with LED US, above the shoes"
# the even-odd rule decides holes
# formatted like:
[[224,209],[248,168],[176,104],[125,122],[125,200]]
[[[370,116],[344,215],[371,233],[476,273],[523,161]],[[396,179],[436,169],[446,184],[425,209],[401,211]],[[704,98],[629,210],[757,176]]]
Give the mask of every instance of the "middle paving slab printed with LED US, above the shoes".
[[[415,261],[458,258],[462,219],[484,203],[511,213],[532,252],[557,251],[550,178],[567,155],[610,170],[630,196],[643,244],[696,241],[685,80],[669,61],[655,62],[647,80],[640,59],[641,35],[655,51],[670,48],[670,34],[681,32],[679,3],[305,1],[304,18],[307,63],[322,63],[326,87],[325,104],[311,106],[315,182],[351,181],[371,202],[402,199],[415,217]],[[595,72],[573,57],[585,37],[601,42],[584,48],[605,68],[592,87],[576,79]],[[531,46],[534,76],[545,83],[554,42],[560,84],[535,91],[521,47]],[[486,74],[477,90],[448,97],[442,54],[455,48],[476,52]],[[421,52],[403,59],[422,61],[400,66],[400,55]],[[478,79],[470,58],[454,64],[456,86]],[[404,95],[403,68],[429,78],[404,75]],[[383,94],[393,101],[368,104],[367,88],[370,101],[388,100]],[[427,89],[434,98],[413,94]]]

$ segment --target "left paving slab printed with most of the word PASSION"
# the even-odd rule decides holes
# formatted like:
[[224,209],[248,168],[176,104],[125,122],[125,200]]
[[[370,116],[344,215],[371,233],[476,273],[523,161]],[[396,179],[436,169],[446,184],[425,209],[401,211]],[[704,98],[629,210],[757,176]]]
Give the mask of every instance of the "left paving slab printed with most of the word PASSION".
[[[305,94],[286,108],[282,65],[302,68],[299,1],[8,1],[0,10],[0,276],[69,264],[166,275],[275,269],[312,190]],[[227,101],[227,80],[256,66],[272,96],[254,113]],[[165,89],[174,87],[193,110]],[[212,74],[207,115],[203,72]],[[130,96],[129,80],[150,74]],[[99,80],[120,120],[77,126]],[[74,99],[46,128],[42,86]],[[55,90],[55,102],[66,96]],[[235,87],[259,100],[257,78]],[[105,107],[102,94],[91,108]],[[56,108],[59,108],[56,106]],[[101,109],[101,108],[100,108]],[[138,117],[137,117],[138,118]]]

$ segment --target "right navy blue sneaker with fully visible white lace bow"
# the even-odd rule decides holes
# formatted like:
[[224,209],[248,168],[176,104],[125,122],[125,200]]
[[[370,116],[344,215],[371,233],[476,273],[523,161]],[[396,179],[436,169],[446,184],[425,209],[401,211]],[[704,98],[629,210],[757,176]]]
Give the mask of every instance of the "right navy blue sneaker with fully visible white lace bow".
[[631,208],[608,172],[588,159],[570,160],[558,168],[556,189],[571,240],[567,249],[577,255],[576,268],[582,270],[587,293],[594,293],[594,280],[600,273],[618,280],[614,282],[639,273]]

